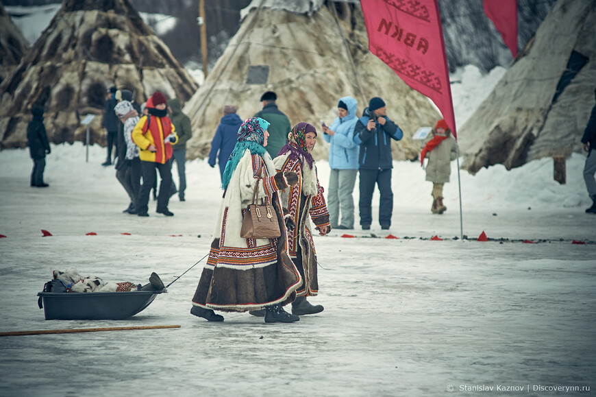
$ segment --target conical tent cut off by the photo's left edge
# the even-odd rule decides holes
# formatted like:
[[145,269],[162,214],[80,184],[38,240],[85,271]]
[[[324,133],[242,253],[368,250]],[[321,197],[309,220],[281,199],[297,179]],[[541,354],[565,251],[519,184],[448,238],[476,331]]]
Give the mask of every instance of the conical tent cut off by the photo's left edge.
[[27,40],[0,3],[0,83],[21,62],[27,49]]

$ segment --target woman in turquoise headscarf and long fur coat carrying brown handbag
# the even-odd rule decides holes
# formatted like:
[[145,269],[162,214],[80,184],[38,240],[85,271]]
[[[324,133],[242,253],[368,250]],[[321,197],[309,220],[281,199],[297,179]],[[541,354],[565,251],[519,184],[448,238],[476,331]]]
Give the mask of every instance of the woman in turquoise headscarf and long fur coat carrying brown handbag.
[[[298,182],[293,172],[275,172],[265,146],[269,123],[259,117],[244,121],[236,146],[223,172],[223,200],[216,221],[209,259],[203,267],[190,313],[209,321],[223,321],[219,311],[265,309],[265,322],[295,322],[282,306],[292,302],[302,278],[287,254],[284,215],[278,191]],[[240,237],[243,215],[251,204],[255,185],[259,197],[275,208],[281,237]]]

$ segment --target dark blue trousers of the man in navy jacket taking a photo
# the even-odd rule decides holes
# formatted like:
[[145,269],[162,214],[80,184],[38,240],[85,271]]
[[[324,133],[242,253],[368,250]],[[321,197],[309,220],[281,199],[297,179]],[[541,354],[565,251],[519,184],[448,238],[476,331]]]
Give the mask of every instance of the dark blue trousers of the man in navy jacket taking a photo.
[[373,223],[373,193],[375,184],[379,188],[379,224],[391,226],[393,214],[393,191],[391,190],[391,169],[360,169],[360,225]]

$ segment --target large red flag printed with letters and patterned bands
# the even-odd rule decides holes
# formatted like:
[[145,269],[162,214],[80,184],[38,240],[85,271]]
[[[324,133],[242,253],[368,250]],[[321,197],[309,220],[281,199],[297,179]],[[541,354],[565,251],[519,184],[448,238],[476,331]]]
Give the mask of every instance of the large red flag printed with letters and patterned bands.
[[434,101],[457,139],[437,1],[361,0],[360,4],[371,52],[408,86]]

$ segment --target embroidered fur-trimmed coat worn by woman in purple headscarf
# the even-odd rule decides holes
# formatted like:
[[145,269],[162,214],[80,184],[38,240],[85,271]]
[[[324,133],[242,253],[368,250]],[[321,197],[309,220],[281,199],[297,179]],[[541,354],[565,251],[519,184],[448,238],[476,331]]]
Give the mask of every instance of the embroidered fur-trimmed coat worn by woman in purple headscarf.
[[297,296],[314,296],[319,293],[319,280],[308,217],[315,226],[330,226],[329,212],[323,187],[316,176],[316,165],[313,164],[311,169],[306,161],[290,159],[289,156],[287,152],[273,160],[277,171],[294,171],[298,175],[298,183],[281,193],[282,206],[295,224],[294,230],[288,232],[288,253],[303,278],[303,285],[296,291]]

